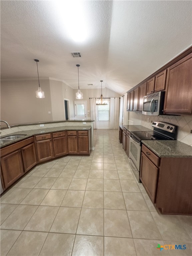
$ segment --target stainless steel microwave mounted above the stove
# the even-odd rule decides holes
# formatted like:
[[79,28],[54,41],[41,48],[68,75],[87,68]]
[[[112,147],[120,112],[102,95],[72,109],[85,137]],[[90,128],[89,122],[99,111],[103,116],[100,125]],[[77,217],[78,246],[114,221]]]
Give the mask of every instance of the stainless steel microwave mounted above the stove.
[[152,93],[143,97],[143,115],[163,115],[165,91]]

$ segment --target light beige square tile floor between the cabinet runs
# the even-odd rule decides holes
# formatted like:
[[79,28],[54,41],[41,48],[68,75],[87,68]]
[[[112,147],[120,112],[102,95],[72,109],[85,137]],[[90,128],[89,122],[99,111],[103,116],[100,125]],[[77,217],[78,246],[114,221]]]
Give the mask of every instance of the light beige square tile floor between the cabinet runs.
[[1,196],[0,255],[191,256],[192,216],[159,214],[118,130],[94,130],[94,145],[36,166]]

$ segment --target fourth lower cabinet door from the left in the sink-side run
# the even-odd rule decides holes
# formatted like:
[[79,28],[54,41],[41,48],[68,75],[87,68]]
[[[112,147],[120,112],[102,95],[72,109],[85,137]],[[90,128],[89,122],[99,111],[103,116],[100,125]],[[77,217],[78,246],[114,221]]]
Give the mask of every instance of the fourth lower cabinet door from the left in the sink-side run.
[[54,156],[64,156],[67,154],[66,136],[53,139]]

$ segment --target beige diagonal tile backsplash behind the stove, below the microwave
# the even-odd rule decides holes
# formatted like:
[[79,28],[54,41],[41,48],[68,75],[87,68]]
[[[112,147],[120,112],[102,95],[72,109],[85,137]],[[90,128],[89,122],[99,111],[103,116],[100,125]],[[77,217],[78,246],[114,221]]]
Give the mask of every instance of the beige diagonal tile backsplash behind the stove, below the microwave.
[[[149,122],[147,122],[149,118]],[[178,126],[177,140],[192,146],[192,115],[184,116],[147,116],[141,115],[141,125],[153,129],[152,123],[161,121]]]

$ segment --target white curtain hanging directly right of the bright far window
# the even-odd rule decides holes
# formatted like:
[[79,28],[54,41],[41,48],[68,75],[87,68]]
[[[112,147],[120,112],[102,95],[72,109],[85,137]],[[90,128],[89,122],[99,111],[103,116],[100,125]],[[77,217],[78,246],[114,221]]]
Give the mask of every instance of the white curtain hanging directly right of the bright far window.
[[119,98],[110,100],[110,129],[119,128]]

